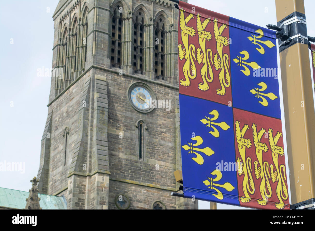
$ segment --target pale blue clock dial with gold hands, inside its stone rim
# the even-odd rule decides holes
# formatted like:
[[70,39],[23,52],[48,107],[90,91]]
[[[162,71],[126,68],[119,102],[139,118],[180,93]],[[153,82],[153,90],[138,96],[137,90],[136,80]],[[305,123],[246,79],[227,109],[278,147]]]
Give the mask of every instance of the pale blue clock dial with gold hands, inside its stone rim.
[[143,87],[135,87],[130,92],[130,98],[135,107],[140,110],[148,110],[150,109],[150,98],[152,96],[150,93]]

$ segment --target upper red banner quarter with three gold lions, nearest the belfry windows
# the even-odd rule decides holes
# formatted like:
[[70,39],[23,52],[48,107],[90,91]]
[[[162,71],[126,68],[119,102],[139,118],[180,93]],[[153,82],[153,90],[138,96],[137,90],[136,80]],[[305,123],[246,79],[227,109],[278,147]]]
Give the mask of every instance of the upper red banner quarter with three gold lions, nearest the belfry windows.
[[[191,14],[192,9],[196,8],[197,15]],[[214,12],[210,20],[205,17],[208,12],[188,3],[179,10],[179,28],[182,28],[178,37],[179,92],[228,105],[232,102],[232,90],[229,87],[231,69],[228,68],[231,65],[230,47],[227,46],[229,17]],[[217,40],[222,40],[222,43]],[[194,81],[199,73],[200,81]]]

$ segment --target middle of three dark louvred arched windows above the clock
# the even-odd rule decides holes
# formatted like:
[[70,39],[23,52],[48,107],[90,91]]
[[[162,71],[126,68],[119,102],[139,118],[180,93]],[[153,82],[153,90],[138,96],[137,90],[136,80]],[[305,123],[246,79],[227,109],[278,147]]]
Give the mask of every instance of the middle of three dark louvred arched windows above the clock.
[[139,12],[134,21],[134,73],[142,74],[143,72],[143,14]]

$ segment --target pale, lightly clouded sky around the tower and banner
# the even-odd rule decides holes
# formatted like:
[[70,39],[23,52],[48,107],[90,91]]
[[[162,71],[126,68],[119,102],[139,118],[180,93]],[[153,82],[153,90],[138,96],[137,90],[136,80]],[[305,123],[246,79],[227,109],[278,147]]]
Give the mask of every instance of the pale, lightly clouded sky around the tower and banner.
[[[274,0],[189,0],[188,3],[262,27],[277,24]],[[57,4],[58,0],[0,3],[0,162],[25,163],[24,173],[0,171],[3,188],[28,191],[30,180],[37,176],[50,91],[50,77],[37,77],[37,69],[51,68],[52,15]],[[315,1],[305,0],[304,5],[308,35],[315,37],[312,12]],[[209,209],[209,202],[199,201],[199,208]],[[240,207],[218,204],[217,208]]]

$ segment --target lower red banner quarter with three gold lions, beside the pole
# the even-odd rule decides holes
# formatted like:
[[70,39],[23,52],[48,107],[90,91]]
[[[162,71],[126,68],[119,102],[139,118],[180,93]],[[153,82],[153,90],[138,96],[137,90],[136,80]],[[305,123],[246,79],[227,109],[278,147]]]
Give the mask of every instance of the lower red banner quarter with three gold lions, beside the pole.
[[249,167],[243,168],[245,173],[241,168],[238,171],[241,206],[289,209],[281,120],[237,108],[233,108],[233,115],[247,144],[240,148],[235,137],[237,163]]

